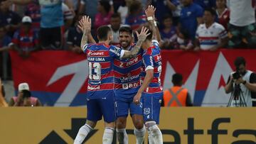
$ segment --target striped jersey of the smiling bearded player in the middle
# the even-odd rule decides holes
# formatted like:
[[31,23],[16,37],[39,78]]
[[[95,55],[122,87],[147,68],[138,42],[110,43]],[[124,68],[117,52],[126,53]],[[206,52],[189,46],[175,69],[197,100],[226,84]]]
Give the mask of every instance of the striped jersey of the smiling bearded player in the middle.
[[[128,50],[132,50],[134,44]],[[123,98],[133,97],[141,86],[142,52],[140,50],[132,59],[114,59],[114,88],[116,96]]]

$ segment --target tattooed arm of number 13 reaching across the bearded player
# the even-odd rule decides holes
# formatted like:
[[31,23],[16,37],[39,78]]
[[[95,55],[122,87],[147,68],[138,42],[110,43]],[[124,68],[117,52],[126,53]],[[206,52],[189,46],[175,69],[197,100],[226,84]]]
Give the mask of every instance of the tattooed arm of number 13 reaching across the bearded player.
[[135,31],[135,32],[138,37],[137,44],[134,46],[134,48],[132,48],[131,51],[124,50],[124,55],[122,56],[122,58],[135,57],[137,55],[137,53],[139,52],[139,49],[142,47],[142,43],[144,42],[144,40],[146,40],[146,37],[150,34],[150,33],[148,33],[149,30],[145,27],[142,27],[142,30],[140,33],[138,33],[137,31]]

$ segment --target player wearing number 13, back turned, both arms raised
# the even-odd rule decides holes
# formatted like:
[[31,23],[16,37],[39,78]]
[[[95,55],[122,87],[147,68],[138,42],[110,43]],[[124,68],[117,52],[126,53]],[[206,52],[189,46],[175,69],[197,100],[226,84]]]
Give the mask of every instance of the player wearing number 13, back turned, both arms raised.
[[114,121],[116,120],[114,109],[114,73],[112,64],[115,57],[132,58],[137,55],[146,36],[149,35],[146,28],[137,33],[138,43],[131,51],[122,50],[110,44],[112,32],[108,26],[97,29],[99,43],[88,44],[88,36],[91,29],[91,19],[84,16],[78,26],[83,31],[81,48],[86,53],[89,65],[89,79],[87,87],[87,121],[78,131],[74,143],[82,143],[88,133],[95,128],[97,121],[105,121],[105,132],[102,137],[103,144],[112,143],[114,134]]

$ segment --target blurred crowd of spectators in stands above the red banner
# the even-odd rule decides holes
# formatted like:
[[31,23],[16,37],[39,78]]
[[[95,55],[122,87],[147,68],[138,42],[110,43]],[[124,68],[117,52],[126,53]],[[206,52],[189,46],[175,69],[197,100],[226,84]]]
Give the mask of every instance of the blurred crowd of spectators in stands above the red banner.
[[77,25],[84,15],[92,18],[92,36],[108,25],[117,44],[120,27],[148,25],[149,4],[156,7],[161,49],[256,48],[256,0],[1,0],[0,77],[11,79],[9,50],[24,59],[36,50],[82,53]]

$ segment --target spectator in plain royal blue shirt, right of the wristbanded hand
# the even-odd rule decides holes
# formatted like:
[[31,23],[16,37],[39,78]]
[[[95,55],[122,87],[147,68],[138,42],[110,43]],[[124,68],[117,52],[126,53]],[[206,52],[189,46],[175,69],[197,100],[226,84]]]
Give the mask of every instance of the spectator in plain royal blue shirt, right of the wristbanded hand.
[[203,23],[203,9],[198,4],[194,4],[193,0],[183,0],[182,3],[181,28],[188,31],[189,38],[194,40],[197,27]]

